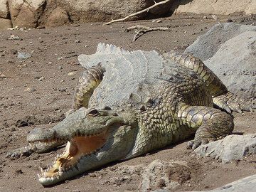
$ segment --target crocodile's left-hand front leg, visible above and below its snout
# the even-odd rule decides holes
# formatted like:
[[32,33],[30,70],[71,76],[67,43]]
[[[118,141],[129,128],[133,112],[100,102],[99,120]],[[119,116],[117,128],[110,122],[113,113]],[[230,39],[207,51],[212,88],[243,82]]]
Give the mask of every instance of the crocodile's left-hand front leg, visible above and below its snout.
[[[78,80],[78,85],[75,90],[74,100],[72,109],[66,113],[66,115],[78,110],[80,107],[87,107],[92,92],[100,84],[103,78],[105,69],[102,68],[100,64],[93,66],[85,70]],[[33,129],[32,132],[44,132],[43,129]],[[63,145],[63,142],[49,142],[49,143],[38,143],[38,144],[28,144],[28,146],[23,146],[18,149],[10,151],[6,157],[11,159],[18,158],[20,156],[29,156],[33,153],[45,153],[51,151],[58,146]]]

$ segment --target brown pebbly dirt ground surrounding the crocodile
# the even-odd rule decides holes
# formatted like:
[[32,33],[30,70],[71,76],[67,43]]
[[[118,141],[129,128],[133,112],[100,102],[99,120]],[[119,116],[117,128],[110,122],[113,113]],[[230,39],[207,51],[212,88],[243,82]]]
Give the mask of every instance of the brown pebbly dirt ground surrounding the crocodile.
[[[253,24],[255,18],[220,16],[221,21],[232,19]],[[135,24],[169,26],[171,31],[146,33],[132,43],[133,32],[124,29]],[[198,158],[186,149],[186,142],[153,151],[128,161],[114,162],[105,168],[85,173],[57,186],[43,188],[37,181],[39,166],[51,164],[58,149],[47,154],[33,154],[20,159],[7,159],[6,153],[26,144],[26,134],[34,127],[52,127],[70,109],[73,90],[82,72],[78,63],[81,53],[95,53],[97,43],[112,43],[127,50],[183,50],[215,24],[213,18],[181,15],[162,18],[160,23],[137,21],[102,23],[24,31],[0,31],[0,191],[137,191],[141,176],[124,177],[119,167],[144,164],[154,159],[187,161],[191,176],[181,182],[177,191],[208,190],[256,173],[256,156],[221,164],[215,159]],[[14,34],[22,40],[9,40]],[[21,60],[18,52],[31,53]],[[235,131],[256,133],[256,114],[235,115]]]

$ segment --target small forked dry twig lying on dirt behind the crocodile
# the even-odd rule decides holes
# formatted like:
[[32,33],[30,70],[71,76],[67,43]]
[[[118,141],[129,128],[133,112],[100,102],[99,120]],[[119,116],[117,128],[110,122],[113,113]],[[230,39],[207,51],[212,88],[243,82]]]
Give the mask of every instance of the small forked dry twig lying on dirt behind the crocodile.
[[149,31],[171,31],[171,29],[168,27],[148,27],[148,26],[139,26],[139,25],[131,26],[127,28],[125,31],[129,32],[134,29],[137,29],[137,31],[135,31],[135,35],[134,35],[134,38],[132,39],[132,42],[136,41],[144,33]]

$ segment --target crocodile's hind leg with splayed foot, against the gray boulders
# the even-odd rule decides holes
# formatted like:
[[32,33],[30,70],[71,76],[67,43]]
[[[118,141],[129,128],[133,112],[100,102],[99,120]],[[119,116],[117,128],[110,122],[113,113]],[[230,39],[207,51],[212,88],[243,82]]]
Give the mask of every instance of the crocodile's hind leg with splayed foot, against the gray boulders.
[[202,60],[186,53],[164,53],[164,58],[174,60],[178,65],[189,68],[196,72],[210,91],[213,97],[213,104],[220,110],[225,110],[228,113],[251,111],[252,105],[249,100],[243,100],[238,95],[229,92],[223,82],[210,70]]

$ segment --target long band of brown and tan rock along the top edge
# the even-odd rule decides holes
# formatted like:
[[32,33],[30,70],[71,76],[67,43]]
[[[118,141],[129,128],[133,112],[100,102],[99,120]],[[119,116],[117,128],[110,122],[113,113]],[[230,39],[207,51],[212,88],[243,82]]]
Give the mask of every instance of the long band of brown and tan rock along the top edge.
[[[122,18],[153,4],[154,0],[0,0],[0,18],[11,19],[12,26],[18,27],[63,26],[110,21],[111,18]],[[194,14],[255,14],[256,1],[173,0],[130,19],[152,18],[172,14],[174,11]],[[0,26],[3,25],[4,22],[0,21]]]

